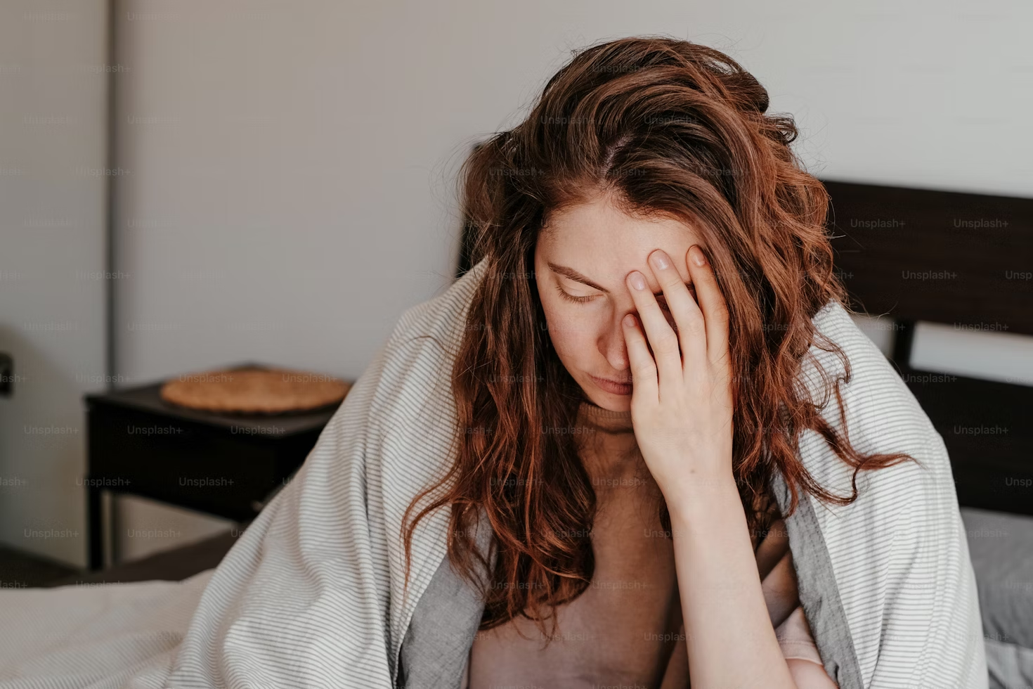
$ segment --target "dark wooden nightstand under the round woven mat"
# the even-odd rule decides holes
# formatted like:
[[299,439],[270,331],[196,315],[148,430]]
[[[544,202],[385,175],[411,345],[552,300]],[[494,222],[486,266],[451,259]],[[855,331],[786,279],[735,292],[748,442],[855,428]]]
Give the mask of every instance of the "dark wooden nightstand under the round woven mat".
[[104,491],[246,522],[302,465],[340,406],[217,414],[163,402],[163,382],[85,398],[91,569],[104,564]]

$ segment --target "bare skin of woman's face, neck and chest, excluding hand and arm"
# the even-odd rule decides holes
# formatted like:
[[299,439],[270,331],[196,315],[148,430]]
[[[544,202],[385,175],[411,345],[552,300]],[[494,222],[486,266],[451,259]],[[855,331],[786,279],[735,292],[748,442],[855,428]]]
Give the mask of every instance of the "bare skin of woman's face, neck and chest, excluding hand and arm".
[[[624,414],[598,418],[588,411],[587,418],[592,407],[583,407],[582,420],[597,429],[585,434],[581,452],[598,500],[592,585],[558,608],[559,624],[547,647],[525,619],[478,634],[471,649],[470,689],[660,686],[682,626],[674,546],[662,534],[660,490],[631,431],[631,396],[608,392],[592,376],[618,382],[631,378],[621,327],[621,319],[635,313],[628,273],[652,276],[647,257],[653,250],[685,256],[693,244],[706,247],[692,227],[672,219],[633,219],[606,199],[555,216],[540,236],[535,275],[560,361],[597,410]],[[606,291],[559,275],[550,263],[572,268]],[[681,271],[690,282],[684,267]],[[659,284],[650,287],[660,291]],[[574,303],[561,289],[588,299]]]

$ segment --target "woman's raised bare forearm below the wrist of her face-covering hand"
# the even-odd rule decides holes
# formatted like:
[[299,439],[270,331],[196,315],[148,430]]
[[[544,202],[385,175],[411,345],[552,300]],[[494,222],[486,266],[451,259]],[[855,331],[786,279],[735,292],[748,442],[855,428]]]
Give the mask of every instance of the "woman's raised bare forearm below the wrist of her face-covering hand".
[[775,636],[735,483],[668,502],[693,689],[796,689]]

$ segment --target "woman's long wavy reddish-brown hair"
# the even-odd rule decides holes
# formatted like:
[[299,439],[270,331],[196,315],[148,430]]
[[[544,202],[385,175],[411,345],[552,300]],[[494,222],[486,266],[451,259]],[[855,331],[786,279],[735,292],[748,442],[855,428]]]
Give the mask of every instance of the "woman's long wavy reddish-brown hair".
[[[790,151],[792,118],[768,105],[764,88],[716,50],[623,38],[575,52],[524,122],[464,162],[468,250],[484,265],[452,371],[458,448],[441,481],[409,505],[403,533],[408,562],[416,523],[450,506],[448,557],[484,597],[481,629],[523,616],[544,632],[594,570],[595,492],[573,435],[550,432],[570,428],[587,398],[551,346],[533,261],[550,214],[570,205],[605,193],[628,214],[702,232],[730,316],[732,467],[752,533],[775,519],[774,471],[790,489],[788,516],[800,490],[850,504],[857,472],[914,459],[862,456],[849,442],[840,395],[849,362],[811,321],[831,300],[854,313],[834,272],[828,197]],[[835,381],[819,368],[821,400],[799,377],[812,344],[845,367]],[[841,433],[819,413],[831,395]],[[849,497],[826,492],[797,459],[806,429],[854,467]],[[494,532],[487,554],[474,541],[480,510]]]

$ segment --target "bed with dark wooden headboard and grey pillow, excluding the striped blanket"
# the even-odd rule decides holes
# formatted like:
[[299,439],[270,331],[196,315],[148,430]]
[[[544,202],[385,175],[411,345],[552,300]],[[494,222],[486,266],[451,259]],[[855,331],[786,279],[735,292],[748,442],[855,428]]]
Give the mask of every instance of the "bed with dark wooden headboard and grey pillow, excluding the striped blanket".
[[[1033,199],[824,184],[836,270],[851,306],[893,319],[889,358],[950,456],[990,687],[1033,686],[1033,386],[925,371],[912,362],[920,322],[1033,335]],[[464,237],[457,276],[473,258]],[[233,540],[224,534],[53,586],[179,581],[214,567]]]

